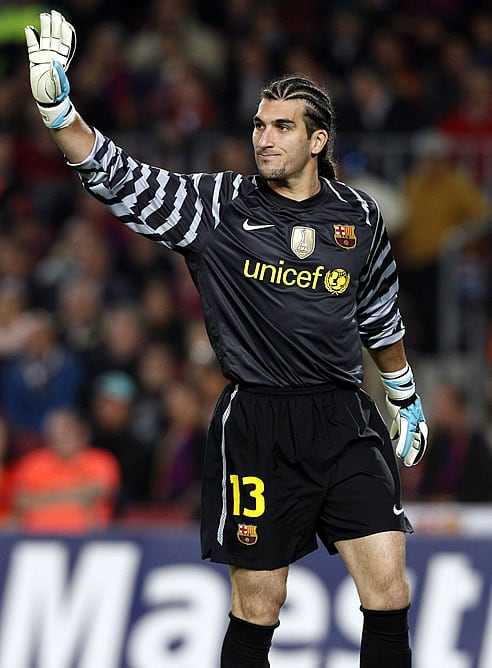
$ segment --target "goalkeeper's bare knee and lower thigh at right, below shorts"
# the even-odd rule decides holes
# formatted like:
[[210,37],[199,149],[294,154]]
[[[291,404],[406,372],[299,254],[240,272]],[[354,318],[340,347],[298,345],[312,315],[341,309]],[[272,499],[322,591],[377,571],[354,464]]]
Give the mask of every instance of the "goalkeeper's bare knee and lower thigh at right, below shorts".
[[398,610],[409,604],[403,532],[385,531],[341,540],[336,547],[355,582],[364,608]]

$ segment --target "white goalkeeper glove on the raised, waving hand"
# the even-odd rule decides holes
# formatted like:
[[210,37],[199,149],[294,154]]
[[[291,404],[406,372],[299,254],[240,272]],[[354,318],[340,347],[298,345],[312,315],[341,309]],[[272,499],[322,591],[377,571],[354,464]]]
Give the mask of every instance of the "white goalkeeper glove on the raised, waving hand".
[[55,10],[39,18],[40,32],[34,26],[25,28],[31,90],[44,124],[60,129],[69,125],[76,113],[65,74],[75,52],[75,29]]

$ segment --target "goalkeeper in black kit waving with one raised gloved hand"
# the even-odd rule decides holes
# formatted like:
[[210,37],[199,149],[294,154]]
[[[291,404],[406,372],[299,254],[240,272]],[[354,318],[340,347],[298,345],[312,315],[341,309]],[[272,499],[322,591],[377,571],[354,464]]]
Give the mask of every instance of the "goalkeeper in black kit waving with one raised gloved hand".
[[[329,96],[305,77],[273,82],[253,119],[256,175],[175,174],[77,113],[66,75],[75,32],[61,14],[42,14],[26,39],[43,122],[92,195],[184,256],[230,380],[208,433],[201,518],[202,557],[228,564],[232,582],[222,668],[269,666],[289,565],[318,538],[357,587],[361,667],[408,668],[412,528],[397,461],[422,458],[427,426],[379,207],[336,178]],[[361,344],[381,373],[390,433],[362,390]]]

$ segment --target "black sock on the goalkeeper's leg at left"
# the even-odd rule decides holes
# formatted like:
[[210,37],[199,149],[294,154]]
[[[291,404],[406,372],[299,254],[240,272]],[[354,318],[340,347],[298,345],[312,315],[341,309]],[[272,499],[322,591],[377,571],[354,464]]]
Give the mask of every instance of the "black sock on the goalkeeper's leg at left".
[[268,652],[278,626],[260,626],[229,614],[220,668],[269,668]]

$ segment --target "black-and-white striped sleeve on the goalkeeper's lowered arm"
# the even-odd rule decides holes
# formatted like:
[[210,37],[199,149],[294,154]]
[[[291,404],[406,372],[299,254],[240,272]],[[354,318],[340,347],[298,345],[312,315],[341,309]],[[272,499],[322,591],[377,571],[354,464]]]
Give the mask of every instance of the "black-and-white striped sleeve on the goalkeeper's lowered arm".
[[374,237],[360,275],[357,295],[359,333],[366,348],[381,348],[399,341],[404,333],[398,308],[398,275],[379,207],[369,199]]

